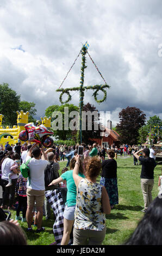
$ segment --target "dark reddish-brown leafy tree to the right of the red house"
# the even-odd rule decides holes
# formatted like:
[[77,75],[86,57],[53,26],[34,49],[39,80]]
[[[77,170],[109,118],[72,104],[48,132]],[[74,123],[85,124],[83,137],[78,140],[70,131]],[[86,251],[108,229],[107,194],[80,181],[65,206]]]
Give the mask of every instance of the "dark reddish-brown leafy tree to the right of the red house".
[[139,129],[145,124],[146,114],[136,107],[127,107],[119,113],[120,123],[116,131],[120,134],[120,142],[130,145],[138,143]]

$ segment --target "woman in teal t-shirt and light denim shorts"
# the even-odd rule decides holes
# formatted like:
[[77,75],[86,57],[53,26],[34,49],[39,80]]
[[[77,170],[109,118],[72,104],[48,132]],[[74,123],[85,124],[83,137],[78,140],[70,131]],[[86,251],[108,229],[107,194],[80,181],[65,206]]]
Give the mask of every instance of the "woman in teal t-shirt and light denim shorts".
[[[75,163],[76,163],[76,160],[73,157],[70,163],[71,170],[67,170],[58,179],[53,180],[51,184],[48,185],[48,186],[57,185],[60,182],[66,180],[67,196],[66,196],[66,204],[65,204],[65,210],[64,210],[64,233],[63,233],[63,238],[61,240],[61,245],[68,245],[68,241],[70,240],[70,233],[74,223],[74,211],[76,209],[77,187],[75,185],[72,174],[73,174],[73,168],[75,166]],[[81,159],[80,159],[80,166],[79,166],[79,176],[82,178],[85,178],[83,174],[83,163]]]

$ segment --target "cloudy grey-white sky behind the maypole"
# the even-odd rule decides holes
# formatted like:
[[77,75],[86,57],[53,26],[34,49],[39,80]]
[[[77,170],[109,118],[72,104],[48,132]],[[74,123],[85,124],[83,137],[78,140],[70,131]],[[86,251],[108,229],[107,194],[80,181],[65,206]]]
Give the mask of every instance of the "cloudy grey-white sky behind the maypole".
[[[110,89],[100,105],[92,90],[84,103],[110,111],[113,125],[127,106],[162,118],[161,13],[161,0],[1,0],[0,83],[35,102],[36,117],[43,117],[48,106],[60,105],[55,90],[88,41]],[[88,54],[86,60],[84,85],[103,84]],[[81,61],[79,56],[61,88],[79,86]],[[70,103],[78,102],[75,93]]]

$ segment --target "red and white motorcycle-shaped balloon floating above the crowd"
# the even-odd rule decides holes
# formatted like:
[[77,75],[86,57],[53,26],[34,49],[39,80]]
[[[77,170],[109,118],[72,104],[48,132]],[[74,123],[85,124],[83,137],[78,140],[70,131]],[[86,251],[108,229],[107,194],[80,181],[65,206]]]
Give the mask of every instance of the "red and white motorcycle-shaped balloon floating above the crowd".
[[24,127],[26,130],[21,131],[18,135],[21,141],[39,143],[45,148],[53,146],[53,139],[49,137],[53,135],[53,132],[49,131],[45,125],[35,126],[33,123],[28,123]]

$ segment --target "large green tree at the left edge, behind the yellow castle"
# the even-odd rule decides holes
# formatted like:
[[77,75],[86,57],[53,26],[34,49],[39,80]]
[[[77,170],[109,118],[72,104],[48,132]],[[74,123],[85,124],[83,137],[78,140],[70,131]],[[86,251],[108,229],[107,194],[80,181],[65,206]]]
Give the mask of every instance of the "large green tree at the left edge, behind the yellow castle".
[[0,84],[0,113],[4,115],[3,125],[16,125],[20,95],[9,87],[8,83]]

